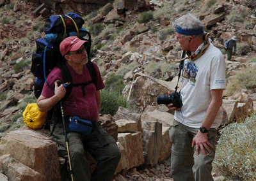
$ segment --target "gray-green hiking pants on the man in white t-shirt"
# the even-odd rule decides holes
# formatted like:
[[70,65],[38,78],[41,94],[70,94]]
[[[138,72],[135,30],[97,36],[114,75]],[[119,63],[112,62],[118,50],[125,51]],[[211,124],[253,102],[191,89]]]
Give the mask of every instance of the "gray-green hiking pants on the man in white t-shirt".
[[198,129],[184,126],[176,120],[173,120],[173,126],[170,129],[170,140],[172,141],[171,173],[174,181],[213,181],[212,161],[215,156],[216,129],[210,129],[208,133],[209,142],[214,145],[211,148],[211,154],[196,154],[195,146],[191,147],[193,138]]

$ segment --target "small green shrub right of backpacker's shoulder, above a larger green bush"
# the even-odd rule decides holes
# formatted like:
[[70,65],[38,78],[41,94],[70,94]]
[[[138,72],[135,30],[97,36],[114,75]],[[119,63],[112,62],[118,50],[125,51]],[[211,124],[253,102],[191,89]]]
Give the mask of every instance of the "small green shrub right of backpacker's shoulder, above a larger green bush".
[[122,90],[125,87],[123,76],[115,73],[111,73],[109,76],[107,76],[104,84],[106,89],[120,93],[122,93]]

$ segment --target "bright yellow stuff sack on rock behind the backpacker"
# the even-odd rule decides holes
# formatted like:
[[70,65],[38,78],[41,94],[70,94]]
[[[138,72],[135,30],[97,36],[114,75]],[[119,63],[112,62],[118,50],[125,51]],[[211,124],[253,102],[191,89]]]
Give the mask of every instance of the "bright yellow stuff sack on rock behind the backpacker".
[[26,106],[22,115],[24,123],[32,129],[42,128],[47,119],[47,112],[40,112],[36,103],[31,103]]

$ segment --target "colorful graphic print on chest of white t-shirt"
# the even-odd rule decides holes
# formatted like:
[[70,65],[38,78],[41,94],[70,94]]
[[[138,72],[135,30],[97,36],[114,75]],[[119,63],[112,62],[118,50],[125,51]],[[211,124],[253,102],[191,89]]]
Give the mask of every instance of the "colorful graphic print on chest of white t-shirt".
[[186,61],[184,64],[184,69],[182,71],[182,77],[186,78],[191,82],[191,85],[195,86],[196,83],[196,75],[198,73],[198,67],[194,62]]

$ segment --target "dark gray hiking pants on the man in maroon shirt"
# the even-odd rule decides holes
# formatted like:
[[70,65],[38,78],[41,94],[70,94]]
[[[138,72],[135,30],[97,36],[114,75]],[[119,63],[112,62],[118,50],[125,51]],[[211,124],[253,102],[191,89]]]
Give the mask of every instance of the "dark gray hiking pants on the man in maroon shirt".
[[[53,136],[58,143],[58,153],[60,156],[67,158],[62,123],[56,124]],[[88,137],[74,132],[68,133],[67,136],[75,181],[108,181],[112,179],[120,161],[121,152],[116,146],[115,139],[100,126],[100,123],[93,123],[92,133]],[[84,151],[90,153],[98,161],[92,175]]]

